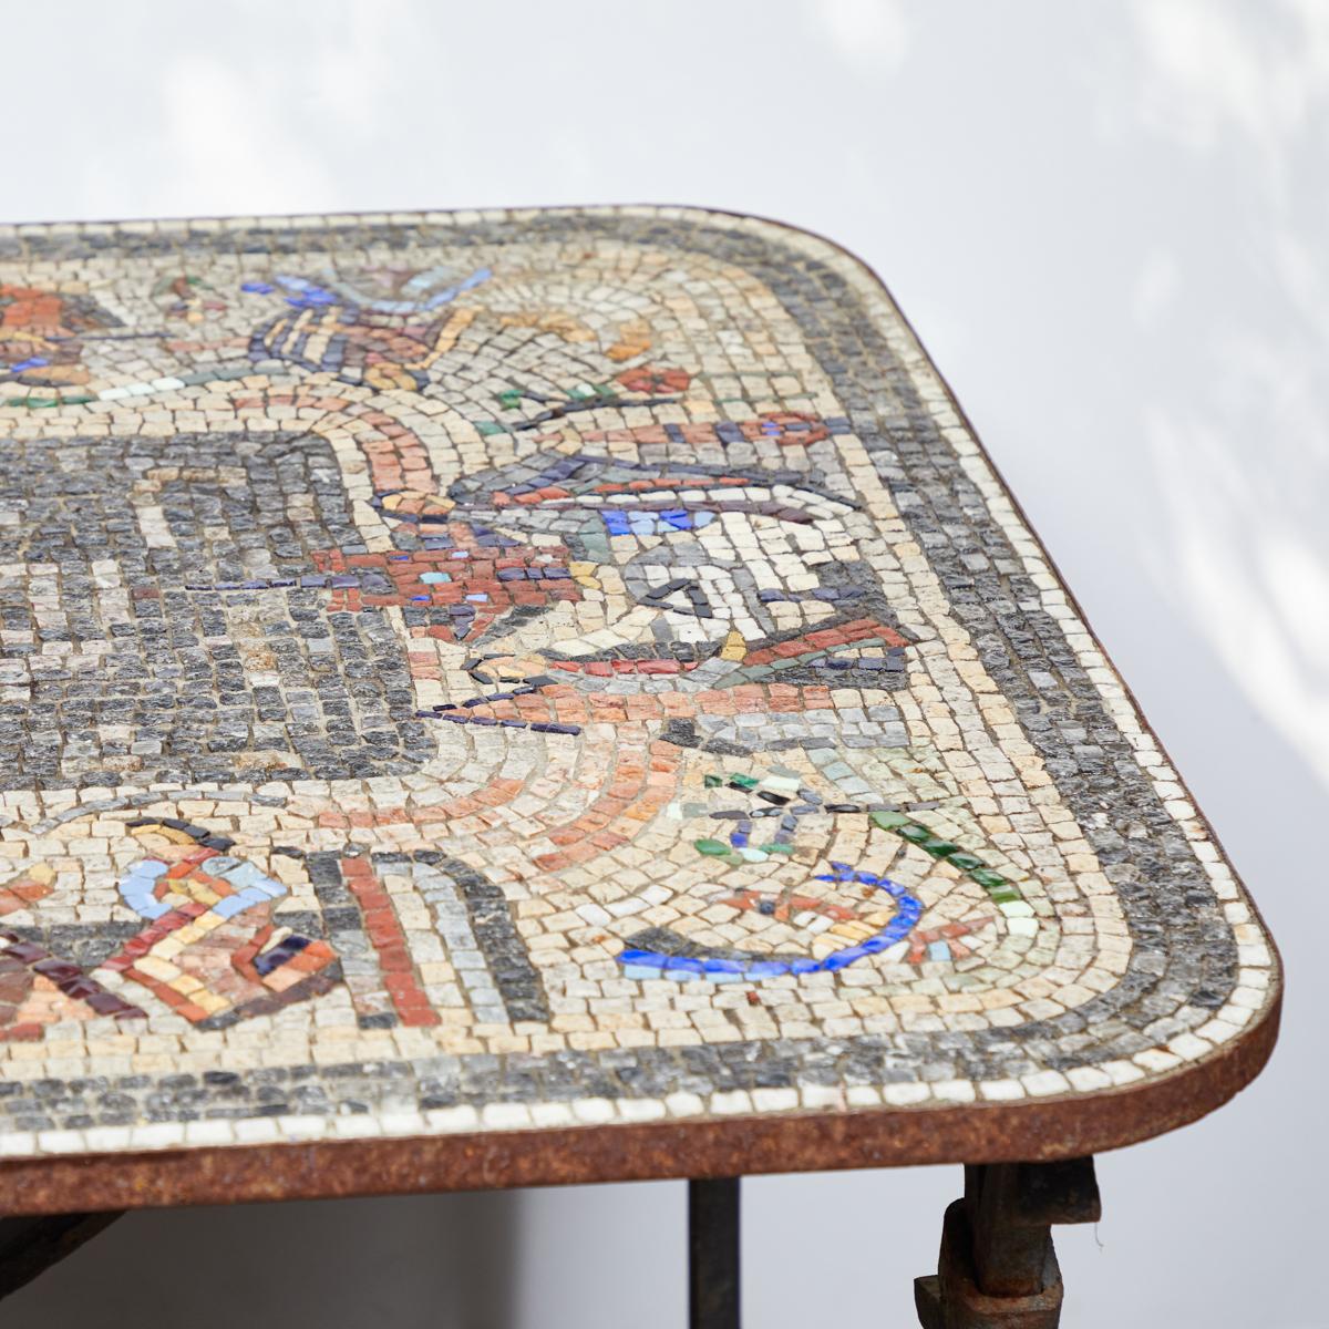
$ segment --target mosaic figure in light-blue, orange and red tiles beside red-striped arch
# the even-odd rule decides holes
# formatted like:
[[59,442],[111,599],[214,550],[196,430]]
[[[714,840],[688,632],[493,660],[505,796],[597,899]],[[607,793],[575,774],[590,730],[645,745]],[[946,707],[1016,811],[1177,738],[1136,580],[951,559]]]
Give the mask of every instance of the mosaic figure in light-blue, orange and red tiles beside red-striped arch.
[[287,888],[230,855],[231,840],[174,817],[130,828],[145,857],[121,878],[120,894],[148,926],[100,969],[205,1029],[334,986],[340,966],[331,946],[274,922]]

